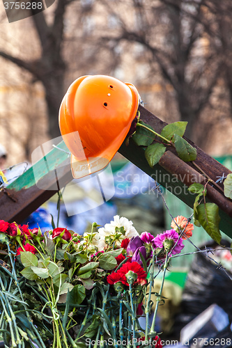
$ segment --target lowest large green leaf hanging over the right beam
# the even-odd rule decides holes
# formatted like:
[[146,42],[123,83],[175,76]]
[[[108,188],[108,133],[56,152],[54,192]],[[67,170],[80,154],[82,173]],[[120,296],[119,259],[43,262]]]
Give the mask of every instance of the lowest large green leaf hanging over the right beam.
[[215,242],[220,244],[222,235],[219,231],[219,207],[215,203],[200,204],[196,207],[196,211],[201,226]]

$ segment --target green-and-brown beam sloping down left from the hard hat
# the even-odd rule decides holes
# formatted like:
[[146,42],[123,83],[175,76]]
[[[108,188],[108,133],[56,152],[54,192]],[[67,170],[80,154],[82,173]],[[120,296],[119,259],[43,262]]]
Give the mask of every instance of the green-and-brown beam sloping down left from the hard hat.
[[[68,150],[63,142],[59,148]],[[54,148],[0,193],[0,219],[20,223],[71,180],[70,157]]]

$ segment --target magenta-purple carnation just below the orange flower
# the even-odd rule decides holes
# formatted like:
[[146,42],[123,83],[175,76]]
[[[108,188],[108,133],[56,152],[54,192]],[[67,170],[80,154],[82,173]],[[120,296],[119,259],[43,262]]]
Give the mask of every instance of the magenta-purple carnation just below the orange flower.
[[[164,233],[161,233],[160,235],[157,235],[154,239],[155,246],[157,248],[162,248],[164,246],[164,249],[167,251],[171,251],[171,255],[179,254],[180,251],[183,249],[183,239],[179,238],[178,233],[175,230],[167,230]],[[178,241],[178,242],[177,242]],[[177,244],[176,244],[177,242]],[[173,246],[176,244],[175,248]],[[173,250],[171,250],[173,248]]]

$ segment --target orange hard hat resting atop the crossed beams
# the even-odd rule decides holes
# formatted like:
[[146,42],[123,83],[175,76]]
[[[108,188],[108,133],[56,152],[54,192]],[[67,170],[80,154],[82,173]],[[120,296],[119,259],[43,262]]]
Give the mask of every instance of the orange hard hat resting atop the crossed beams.
[[105,75],[82,76],[63,97],[59,126],[71,155],[72,175],[105,168],[136,116],[139,93],[132,84]]

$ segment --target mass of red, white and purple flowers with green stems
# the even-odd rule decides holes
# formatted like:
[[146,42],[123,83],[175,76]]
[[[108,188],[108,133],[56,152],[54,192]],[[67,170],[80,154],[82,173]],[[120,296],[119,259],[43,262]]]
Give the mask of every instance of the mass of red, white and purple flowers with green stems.
[[84,235],[0,221],[0,347],[162,347],[155,319],[165,272],[192,234],[187,219],[173,223],[154,237],[119,216]]

